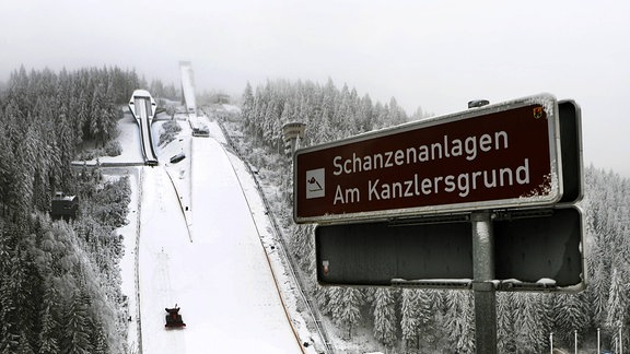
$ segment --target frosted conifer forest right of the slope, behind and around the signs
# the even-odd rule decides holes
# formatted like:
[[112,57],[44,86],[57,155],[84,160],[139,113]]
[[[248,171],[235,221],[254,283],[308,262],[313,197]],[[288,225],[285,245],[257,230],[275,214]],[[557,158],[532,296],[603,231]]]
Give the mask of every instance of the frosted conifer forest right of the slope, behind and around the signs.
[[[393,98],[373,104],[331,80],[313,82],[267,81],[255,92],[243,93],[240,148],[275,184],[285,184],[289,164],[281,149],[281,127],[289,121],[307,123],[302,146],[334,141],[357,133],[424,118],[422,109],[407,117]],[[234,120],[234,119],[233,119]],[[261,154],[260,149],[266,151]],[[270,157],[276,156],[276,158]],[[584,233],[587,263],[586,291],[564,293],[498,293],[500,353],[540,353],[556,345],[571,347],[578,331],[581,343],[595,340],[599,328],[607,347],[618,340],[619,328],[630,324],[630,180],[588,166],[584,172]],[[269,177],[270,176],[270,177]],[[290,181],[289,181],[290,184]],[[291,187],[288,188],[289,191]],[[271,198],[275,198],[271,196]],[[295,225],[292,198],[277,198],[283,224],[293,229],[291,252],[302,270],[315,279],[314,226]],[[314,283],[314,282],[313,282]],[[322,312],[350,339],[361,323],[372,328],[384,347],[404,353],[475,351],[474,303],[469,291],[415,288],[320,287],[311,292]],[[626,330],[623,345],[630,344]]]

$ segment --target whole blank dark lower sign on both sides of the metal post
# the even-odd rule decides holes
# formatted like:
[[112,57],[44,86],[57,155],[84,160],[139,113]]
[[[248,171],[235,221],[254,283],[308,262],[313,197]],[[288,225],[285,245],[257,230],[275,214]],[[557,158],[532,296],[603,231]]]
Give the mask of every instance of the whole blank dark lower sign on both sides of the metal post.
[[[500,291],[579,291],[585,284],[576,208],[499,214],[492,225]],[[459,288],[472,280],[467,221],[318,226],[315,246],[323,285]]]

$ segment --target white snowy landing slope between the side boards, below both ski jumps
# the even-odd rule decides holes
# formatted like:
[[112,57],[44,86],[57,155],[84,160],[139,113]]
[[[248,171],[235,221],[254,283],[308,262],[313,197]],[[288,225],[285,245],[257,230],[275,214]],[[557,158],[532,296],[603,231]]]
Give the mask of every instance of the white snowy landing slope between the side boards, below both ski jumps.
[[[222,146],[195,139],[191,168],[191,238],[164,166],[143,168],[143,353],[301,353]],[[165,330],[175,304],[187,327]]]

